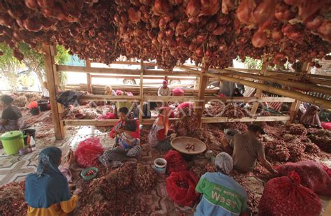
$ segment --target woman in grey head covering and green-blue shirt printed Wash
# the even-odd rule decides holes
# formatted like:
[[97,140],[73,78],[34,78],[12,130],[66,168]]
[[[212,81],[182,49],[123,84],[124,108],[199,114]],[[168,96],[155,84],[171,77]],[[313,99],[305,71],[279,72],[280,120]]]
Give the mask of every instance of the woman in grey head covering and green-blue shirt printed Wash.
[[216,172],[205,173],[196,185],[196,192],[203,197],[194,215],[232,216],[245,213],[247,192],[242,185],[228,176],[233,169],[232,158],[221,152],[215,158],[215,166]]

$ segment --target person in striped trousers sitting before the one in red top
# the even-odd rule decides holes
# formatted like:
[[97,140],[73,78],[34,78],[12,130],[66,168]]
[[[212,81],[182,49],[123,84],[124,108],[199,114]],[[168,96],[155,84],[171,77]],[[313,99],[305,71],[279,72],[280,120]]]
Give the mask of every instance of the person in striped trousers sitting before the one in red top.
[[135,120],[126,120],[123,131],[117,134],[119,146],[103,152],[99,161],[107,166],[110,161],[124,161],[127,157],[138,156],[142,147],[140,146],[140,139],[132,136],[136,127]]

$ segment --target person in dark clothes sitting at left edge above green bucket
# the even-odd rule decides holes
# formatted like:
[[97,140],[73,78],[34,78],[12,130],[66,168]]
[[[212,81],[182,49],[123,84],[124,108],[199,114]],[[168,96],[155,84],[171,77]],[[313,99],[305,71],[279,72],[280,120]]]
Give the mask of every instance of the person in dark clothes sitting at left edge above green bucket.
[[0,133],[17,131],[23,125],[21,111],[16,106],[11,105],[13,100],[8,95],[1,97],[3,111],[0,120]]

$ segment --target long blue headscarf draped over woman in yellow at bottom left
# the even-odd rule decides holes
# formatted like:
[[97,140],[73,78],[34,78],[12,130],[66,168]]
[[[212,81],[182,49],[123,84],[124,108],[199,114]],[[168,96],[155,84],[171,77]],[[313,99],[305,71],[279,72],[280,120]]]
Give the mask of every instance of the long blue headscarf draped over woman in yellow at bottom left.
[[36,173],[25,180],[25,201],[32,208],[49,208],[54,203],[71,199],[66,177],[59,171],[61,150],[46,147],[39,154]]

